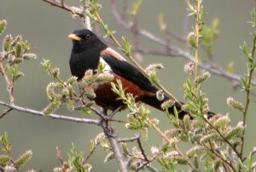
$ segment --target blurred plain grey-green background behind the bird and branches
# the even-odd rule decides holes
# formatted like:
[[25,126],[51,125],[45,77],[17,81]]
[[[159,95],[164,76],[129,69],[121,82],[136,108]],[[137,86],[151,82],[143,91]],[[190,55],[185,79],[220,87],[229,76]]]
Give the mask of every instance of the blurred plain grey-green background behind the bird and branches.
[[[74,0],[65,2],[71,6],[79,4],[79,1]],[[116,31],[116,37],[120,40],[121,36],[126,36],[131,39],[132,43],[131,34],[123,30],[114,20],[109,1],[99,0],[98,2],[102,4],[102,19],[105,20],[111,30]],[[247,21],[250,20],[248,11],[256,6],[255,1],[214,0],[203,1],[203,3],[207,12],[205,15],[206,24],[210,25],[215,17],[219,19],[220,35],[213,46],[215,60],[224,67],[230,62],[234,62],[234,72],[240,76],[244,75],[246,73],[246,60],[239,46],[244,41],[247,42],[249,47],[252,45],[252,37],[250,35],[252,29],[247,24]],[[119,11],[121,10],[121,7],[119,7]],[[183,34],[184,16],[187,12],[186,4],[180,0],[144,1],[137,17],[138,27],[145,28],[155,35],[165,38],[165,35],[160,33],[158,26],[157,17],[160,13],[165,15],[166,24],[168,24],[171,32]],[[26,76],[22,77],[15,85],[15,104],[40,111],[48,104],[45,88],[51,81],[51,78],[44,73],[44,69],[40,66],[40,61],[42,58],[51,60],[52,66],[61,68],[62,78],[70,77],[68,60],[72,43],[67,36],[73,30],[83,27],[82,22],[81,20],[73,19],[72,15],[67,11],[52,7],[40,0],[1,0],[0,20],[3,19],[8,21],[8,27],[0,37],[1,43],[6,34],[12,34],[14,37],[20,34],[24,39],[32,43],[32,52],[38,55],[37,60],[21,65],[21,71]],[[193,24],[191,21],[189,23]],[[189,30],[192,30],[191,25],[189,25]],[[143,47],[163,49],[144,37],[140,37],[139,41]],[[175,40],[171,40],[171,43],[177,46],[182,45]],[[183,65],[186,62],[180,57],[145,55],[141,64],[142,66],[148,66],[150,63],[164,64],[165,68],[159,73],[161,83],[173,95],[176,95],[179,100],[183,100],[182,84],[187,78],[183,72]],[[2,76],[0,77],[0,88],[0,100],[8,102],[6,85]],[[241,113],[230,109],[226,105],[226,99],[230,95],[241,102],[245,102],[245,94],[241,93],[240,89],[234,90],[232,84],[226,78],[212,75],[211,79],[204,85],[203,90],[210,100],[209,104],[213,112],[222,114],[229,112],[234,125],[241,121]],[[255,133],[253,133],[255,130],[254,123],[256,122],[255,97],[252,97],[251,103],[247,118],[247,152],[256,145],[256,137]],[[3,110],[3,106],[0,106],[0,112],[3,112]],[[69,112],[66,107],[60,108],[56,113],[80,117],[78,112]],[[118,116],[118,118],[125,118],[125,112],[120,113]],[[163,113],[154,109],[152,109],[152,116],[160,118],[160,123],[165,120]],[[161,126],[162,129],[172,128],[170,123],[164,123]],[[132,132],[125,130],[121,124],[116,124],[115,127],[120,131],[120,137],[133,135]],[[0,135],[5,131],[9,134],[14,157],[19,156],[26,150],[32,150],[32,160],[26,167],[37,171],[40,169],[42,171],[52,171],[60,164],[56,158],[55,146],[59,147],[63,158],[67,157],[67,152],[69,152],[72,143],[79,152],[82,151],[86,155],[90,140],[102,132],[99,127],[90,124],[34,117],[15,111],[0,119]],[[145,150],[149,153],[150,146],[160,146],[160,144],[160,136],[154,131],[147,141],[143,141]],[[107,152],[103,152],[102,148],[98,147],[96,149],[96,153],[89,161],[89,163],[93,164],[92,171],[117,170],[114,161],[103,164],[106,155]]]

